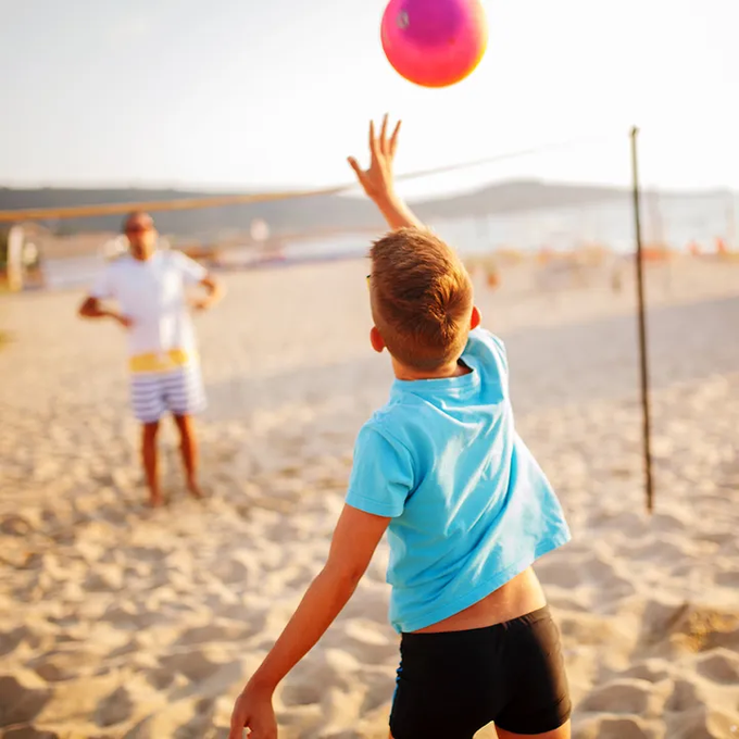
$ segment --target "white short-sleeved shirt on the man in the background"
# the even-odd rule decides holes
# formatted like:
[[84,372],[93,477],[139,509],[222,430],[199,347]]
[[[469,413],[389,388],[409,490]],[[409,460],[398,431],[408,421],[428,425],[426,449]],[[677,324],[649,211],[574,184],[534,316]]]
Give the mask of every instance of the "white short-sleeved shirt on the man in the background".
[[[90,295],[115,300],[133,321],[128,329],[131,360],[176,353],[183,361],[197,352],[185,288],[199,284],[206,270],[178,251],[155,251],[148,260],[124,254],[105,266]],[[173,354],[174,355],[174,354]],[[131,362],[135,368],[136,362]]]

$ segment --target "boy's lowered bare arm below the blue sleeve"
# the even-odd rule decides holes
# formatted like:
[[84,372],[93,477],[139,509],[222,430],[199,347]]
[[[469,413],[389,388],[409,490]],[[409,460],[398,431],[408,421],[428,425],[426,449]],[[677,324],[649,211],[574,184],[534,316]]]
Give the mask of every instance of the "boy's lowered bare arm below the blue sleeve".
[[389,524],[390,518],[345,505],[326,565],[236,702],[229,739],[240,739],[245,727],[258,736],[277,736],[272,709],[275,688],[347,604]]

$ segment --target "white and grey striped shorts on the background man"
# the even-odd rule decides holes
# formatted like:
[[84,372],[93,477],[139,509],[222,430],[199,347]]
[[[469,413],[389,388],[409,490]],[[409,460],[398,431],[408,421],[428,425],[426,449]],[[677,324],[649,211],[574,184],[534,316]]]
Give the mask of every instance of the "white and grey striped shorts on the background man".
[[152,424],[166,413],[192,415],[205,409],[200,365],[189,363],[167,372],[136,373],[130,378],[136,419]]

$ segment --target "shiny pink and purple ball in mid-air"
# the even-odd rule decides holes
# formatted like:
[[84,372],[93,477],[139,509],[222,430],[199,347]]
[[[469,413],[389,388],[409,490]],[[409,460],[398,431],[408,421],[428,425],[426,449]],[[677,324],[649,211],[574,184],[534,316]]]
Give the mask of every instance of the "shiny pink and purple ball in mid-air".
[[422,87],[448,87],[480,63],[488,25],[479,0],[390,0],[381,39],[402,77]]

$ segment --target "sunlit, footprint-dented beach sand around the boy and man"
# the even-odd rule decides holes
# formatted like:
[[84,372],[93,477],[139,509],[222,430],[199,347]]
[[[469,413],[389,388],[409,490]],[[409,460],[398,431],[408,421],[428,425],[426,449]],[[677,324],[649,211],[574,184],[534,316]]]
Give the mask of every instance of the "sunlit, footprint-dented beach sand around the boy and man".
[[[233,701],[328,550],[354,437],[387,397],[361,261],[225,277],[198,316],[208,500],[163,435],[147,510],[121,329],[80,292],[0,300],[0,736],[226,736]],[[655,511],[644,511],[632,280],[540,289],[505,340],[522,436],[573,542],[537,567],[561,627],[577,739],[739,737],[739,262],[648,270]],[[515,273],[515,274],[514,274]],[[381,546],[280,688],[281,739],[379,739],[398,663]],[[483,731],[480,737],[490,737]]]

